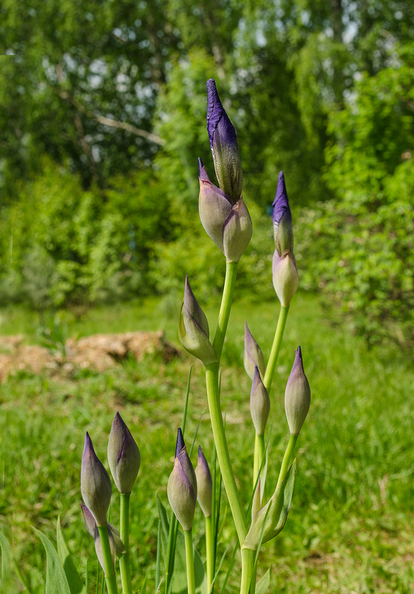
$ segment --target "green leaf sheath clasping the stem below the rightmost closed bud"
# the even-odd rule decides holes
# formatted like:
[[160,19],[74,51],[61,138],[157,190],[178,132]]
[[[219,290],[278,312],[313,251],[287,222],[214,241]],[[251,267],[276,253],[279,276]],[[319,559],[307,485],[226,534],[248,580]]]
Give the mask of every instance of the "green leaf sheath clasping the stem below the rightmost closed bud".
[[259,542],[270,541],[282,531],[289,513],[290,501],[292,501],[295,472],[296,460],[290,465],[285,478],[277,485],[270,500],[252,520],[242,549],[255,551]]

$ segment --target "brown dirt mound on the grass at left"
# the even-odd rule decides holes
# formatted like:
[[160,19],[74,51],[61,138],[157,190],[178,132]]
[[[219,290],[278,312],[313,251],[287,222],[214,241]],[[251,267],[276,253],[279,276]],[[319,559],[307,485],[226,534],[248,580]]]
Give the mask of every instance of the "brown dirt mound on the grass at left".
[[39,373],[49,368],[72,371],[93,368],[104,371],[132,356],[140,361],[144,355],[158,353],[168,362],[179,351],[165,340],[162,332],[125,332],[93,334],[78,340],[69,338],[65,353],[52,353],[38,345],[24,345],[24,336],[0,336],[0,380],[19,370]]

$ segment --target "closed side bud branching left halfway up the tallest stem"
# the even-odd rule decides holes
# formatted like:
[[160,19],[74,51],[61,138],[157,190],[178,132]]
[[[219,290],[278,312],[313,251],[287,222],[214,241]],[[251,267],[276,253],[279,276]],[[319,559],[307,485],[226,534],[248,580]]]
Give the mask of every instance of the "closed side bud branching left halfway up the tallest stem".
[[178,321],[179,340],[191,355],[194,355],[204,365],[216,363],[217,357],[208,337],[208,322],[206,314],[198,305],[194,293],[188,282],[188,276],[185,277],[184,300],[181,305],[180,317]]

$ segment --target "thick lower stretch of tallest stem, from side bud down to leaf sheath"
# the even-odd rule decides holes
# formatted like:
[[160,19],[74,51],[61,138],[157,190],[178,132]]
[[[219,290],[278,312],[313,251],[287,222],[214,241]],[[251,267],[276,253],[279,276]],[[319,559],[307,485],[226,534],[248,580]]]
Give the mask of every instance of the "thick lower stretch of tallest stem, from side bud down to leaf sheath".
[[244,542],[248,532],[248,525],[236,485],[236,480],[234,478],[232,463],[230,462],[229,448],[227,448],[225,428],[223,425],[222,407],[220,406],[218,363],[206,365],[206,387],[208,407],[210,409],[211,427],[213,428],[214,443],[216,444],[217,459],[219,460],[220,470],[222,472],[230,509],[232,510],[237,535],[239,537],[239,541]]

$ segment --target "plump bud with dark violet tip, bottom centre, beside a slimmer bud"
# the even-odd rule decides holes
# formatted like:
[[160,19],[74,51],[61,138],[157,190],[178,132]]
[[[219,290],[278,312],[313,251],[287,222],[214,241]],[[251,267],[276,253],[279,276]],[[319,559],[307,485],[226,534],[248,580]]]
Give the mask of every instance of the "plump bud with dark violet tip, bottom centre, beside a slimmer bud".
[[175,462],[168,479],[167,495],[175,517],[182,528],[191,530],[197,501],[197,479],[185,445],[178,451],[182,443],[184,442],[181,429],[178,429]]

